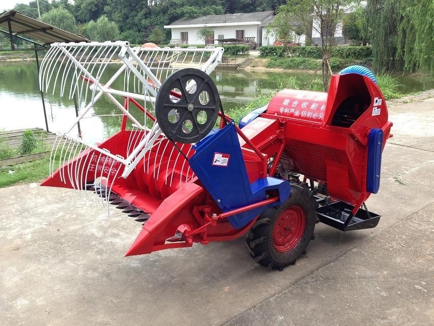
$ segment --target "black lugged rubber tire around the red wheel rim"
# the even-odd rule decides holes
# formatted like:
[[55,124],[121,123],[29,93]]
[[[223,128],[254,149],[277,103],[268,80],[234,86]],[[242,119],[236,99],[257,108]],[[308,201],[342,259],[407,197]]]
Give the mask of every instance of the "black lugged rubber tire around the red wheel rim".
[[[276,250],[273,242],[273,229],[278,216],[291,206],[299,206],[304,211],[305,226],[301,238],[294,248],[281,252]],[[314,238],[313,230],[317,221],[317,203],[312,192],[305,186],[291,184],[291,197],[282,205],[267,209],[249,230],[246,239],[252,258],[260,265],[282,270],[288,265],[294,265],[296,259],[303,253]]]

